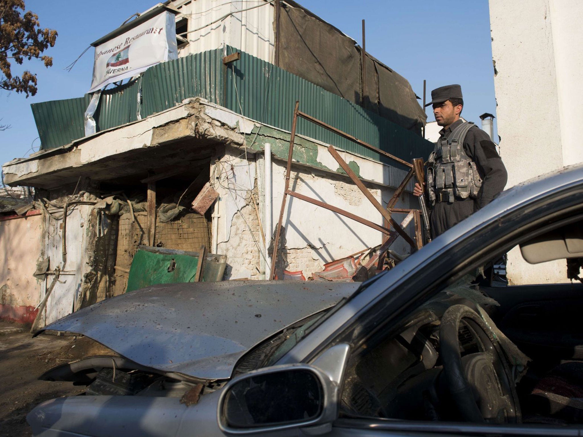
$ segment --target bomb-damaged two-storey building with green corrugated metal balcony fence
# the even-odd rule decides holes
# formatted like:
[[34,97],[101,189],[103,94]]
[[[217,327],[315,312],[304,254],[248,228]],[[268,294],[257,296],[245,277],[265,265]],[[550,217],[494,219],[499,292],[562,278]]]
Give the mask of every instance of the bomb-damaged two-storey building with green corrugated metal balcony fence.
[[[290,197],[273,252],[293,129],[289,190],[387,228],[328,147],[386,207],[410,170],[387,155],[406,164],[433,145],[407,80],[352,38],[293,1],[245,5],[156,5],[92,45],[97,57],[115,38],[145,41],[141,26],[164,16],[166,59],[103,91],[31,105],[41,149],[4,164],[3,174],[7,185],[34,188],[37,237],[26,242],[23,274],[36,294],[19,298],[16,273],[3,271],[0,316],[10,307],[27,314],[13,318],[45,326],[140,281],[269,279],[274,253],[278,279],[308,279],[385,241],[378,226]],[[106,53],[110,71],[128,64],[127,47]],[[360,143],[305,118],[293,127],[296,101]],[[419,208],[412,183],[392,202],[399,223]],[[412,225],[403,228],[419,240]],[[3,244],[19,238],[1,229]],[[391,249],[414,250],[405,238]],[[161,263],[138,260],[140,251]]]

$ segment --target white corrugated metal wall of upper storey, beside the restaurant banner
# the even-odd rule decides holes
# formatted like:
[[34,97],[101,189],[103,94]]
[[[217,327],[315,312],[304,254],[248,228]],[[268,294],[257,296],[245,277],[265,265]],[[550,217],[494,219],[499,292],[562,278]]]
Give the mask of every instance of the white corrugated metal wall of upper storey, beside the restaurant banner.
[[[258,8],[252,6],[261,5]],[[187,17],[189,44],[178,50],[178,56],[200,53],[230,45],[264,61],[272,62],[273,5],[266,0],[184,0],[173,5],[180,10],[177,20]],[[210,24],[225,15],[230,16]],[[210,24],[209,26],[206,26]]]

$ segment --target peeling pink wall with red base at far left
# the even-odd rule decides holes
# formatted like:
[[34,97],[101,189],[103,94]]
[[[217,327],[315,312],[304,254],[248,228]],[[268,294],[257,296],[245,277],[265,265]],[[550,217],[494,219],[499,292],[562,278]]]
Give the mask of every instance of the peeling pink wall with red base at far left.
[[26,315],[40,302],[41,285],[33,274],[42,228],[40,215],[0,221],[0,318],[29,321]]

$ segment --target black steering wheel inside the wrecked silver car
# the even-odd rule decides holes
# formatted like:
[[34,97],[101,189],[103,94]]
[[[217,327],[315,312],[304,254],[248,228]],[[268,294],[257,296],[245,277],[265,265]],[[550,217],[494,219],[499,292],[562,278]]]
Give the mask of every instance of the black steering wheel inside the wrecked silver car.
[[[462,319],[480,350],[463,358],[458,337]],[[503,351],[493,332],[473,309],[452,305],[445,311],[440,326],[440,356],[449,393],[465,420],[521,422],[514,380]]]

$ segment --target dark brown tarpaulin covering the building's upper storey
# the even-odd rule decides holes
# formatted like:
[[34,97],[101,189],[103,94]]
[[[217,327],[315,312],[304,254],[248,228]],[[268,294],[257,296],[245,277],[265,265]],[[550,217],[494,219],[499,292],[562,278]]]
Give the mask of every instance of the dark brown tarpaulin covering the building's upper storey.
[[[336,27],[293,1],[282,4],[279,66],[410,131],[421,133],[427,115],[408,80],[366,57],[361,99],[361,48]],[[275,23],[274,23],[275,25]]]

